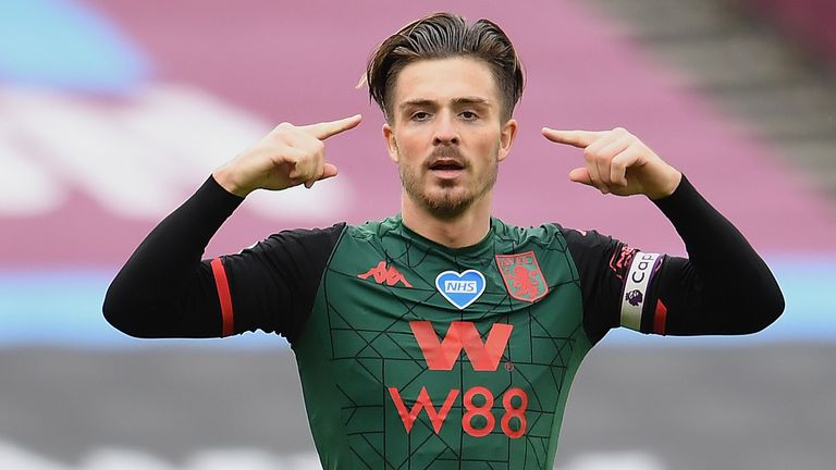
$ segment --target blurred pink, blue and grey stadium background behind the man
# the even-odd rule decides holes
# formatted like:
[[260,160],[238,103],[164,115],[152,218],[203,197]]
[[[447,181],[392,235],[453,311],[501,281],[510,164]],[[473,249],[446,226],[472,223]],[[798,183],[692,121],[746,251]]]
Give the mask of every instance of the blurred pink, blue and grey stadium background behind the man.
[[[496,212],[684,253],[640,198],[565,175],[543,125],[625,126],[765,256],[787,298],[738,338],[614,332],[573,388],[557,468],[823,469],[836,461],[836,4],[827,0],[460,1],[528,72]],[[448,2],[0,2],[0,468],[315,469],[283,339],[137,341],[100,314],[144,235],[281,121],[365,114],[341,175],[259,195],[207,256],[283,227],[398,207],[372,48]]]

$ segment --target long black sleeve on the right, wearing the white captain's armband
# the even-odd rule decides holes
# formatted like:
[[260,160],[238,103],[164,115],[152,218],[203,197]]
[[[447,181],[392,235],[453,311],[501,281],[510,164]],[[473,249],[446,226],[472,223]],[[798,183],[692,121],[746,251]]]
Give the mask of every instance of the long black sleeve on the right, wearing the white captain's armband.
[[[681,336],[754,333],[780,316],[784,296],[766,263],[685,176],[655,205],[685,242],[688,259],[663,255],[654,260],[598,233],[563,230],[580,276],[590,339],[624,325],[628,305],[640,311],[630,327]],[[647,269],[646,259],[651,260]],[[647,288],[626,288],[631,275],[644,274]]]

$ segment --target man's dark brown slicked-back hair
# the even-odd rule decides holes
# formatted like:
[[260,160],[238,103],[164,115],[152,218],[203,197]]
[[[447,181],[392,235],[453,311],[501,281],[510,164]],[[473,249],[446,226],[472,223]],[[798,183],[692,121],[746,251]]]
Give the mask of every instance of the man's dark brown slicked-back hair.
[[492,21],[479,20],[468,26],[453,13],[422,17],[386,38],[366,67],[369,97],[391,120],[391,94],[401,71],[417,61],[454,57],[478,59],[491,67],[503,99],[503,118],[511,119],[525,86],[514,45]]

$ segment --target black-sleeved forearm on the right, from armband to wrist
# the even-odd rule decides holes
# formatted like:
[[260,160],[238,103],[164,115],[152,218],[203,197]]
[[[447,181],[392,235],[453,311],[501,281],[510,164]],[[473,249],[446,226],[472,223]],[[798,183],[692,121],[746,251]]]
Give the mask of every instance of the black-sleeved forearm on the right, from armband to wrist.
[[654,201],[671,220],[688,260],[668,257],[657,296],[672,306],[666,334],[745,334],[774,322],[784,297],[766,263],[743,235],[683,177]]

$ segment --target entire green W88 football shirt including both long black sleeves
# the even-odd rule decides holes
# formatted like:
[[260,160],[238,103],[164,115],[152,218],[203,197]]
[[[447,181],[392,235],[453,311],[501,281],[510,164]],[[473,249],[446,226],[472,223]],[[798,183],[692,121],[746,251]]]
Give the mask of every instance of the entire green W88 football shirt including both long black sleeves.
[[784,309],[769,267],[685,177],[654,203],[691,259],[496,219],[450,249],[395,217],[200,261],[242,201],[208,178],[125,263],[104,314],[138,337],[287,337],[327,469],[551,469],[571,380],[607,331],[745,334]]

